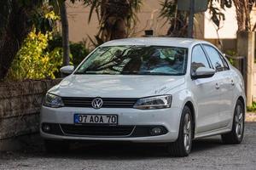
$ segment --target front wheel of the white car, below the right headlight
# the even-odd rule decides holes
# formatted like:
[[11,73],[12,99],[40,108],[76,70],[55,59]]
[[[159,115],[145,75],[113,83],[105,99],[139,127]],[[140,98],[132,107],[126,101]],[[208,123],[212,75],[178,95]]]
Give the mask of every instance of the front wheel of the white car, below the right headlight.
[[168,144],[168,152],[171,156],[189,156],[192,147],[193,119],[188,106],[184,106],[177,140]]

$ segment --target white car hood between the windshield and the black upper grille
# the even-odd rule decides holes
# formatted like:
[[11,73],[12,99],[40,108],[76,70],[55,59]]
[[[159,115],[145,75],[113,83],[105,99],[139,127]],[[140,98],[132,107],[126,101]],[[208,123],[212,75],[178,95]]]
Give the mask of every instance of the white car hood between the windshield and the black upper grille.
[[70,75],[49,93],[62,97],[142,98],[166,94],[183,83],[183,76]]

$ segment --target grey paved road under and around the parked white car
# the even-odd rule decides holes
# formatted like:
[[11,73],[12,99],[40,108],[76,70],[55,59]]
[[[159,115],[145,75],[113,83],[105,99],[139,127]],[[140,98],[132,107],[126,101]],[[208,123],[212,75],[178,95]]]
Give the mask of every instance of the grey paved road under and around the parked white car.
[[165,145],[80,144],[66,154],[48,155],[41,145],[23,152],[0,153],[0,169],[255,169],[256,122],[246,124],[239,145],[225,145],[219,137],[194,141],[185,158],[166,154]]

